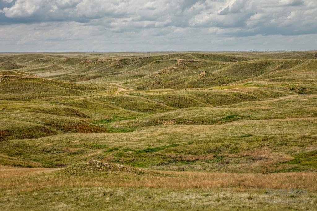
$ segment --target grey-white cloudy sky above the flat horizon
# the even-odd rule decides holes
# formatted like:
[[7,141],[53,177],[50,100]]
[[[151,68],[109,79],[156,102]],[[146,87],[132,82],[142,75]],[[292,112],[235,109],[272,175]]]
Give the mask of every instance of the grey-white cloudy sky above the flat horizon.
[[317,49],[317,0],[0,0],[0,52]]

